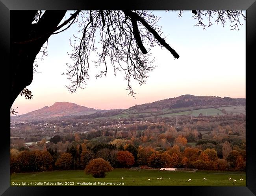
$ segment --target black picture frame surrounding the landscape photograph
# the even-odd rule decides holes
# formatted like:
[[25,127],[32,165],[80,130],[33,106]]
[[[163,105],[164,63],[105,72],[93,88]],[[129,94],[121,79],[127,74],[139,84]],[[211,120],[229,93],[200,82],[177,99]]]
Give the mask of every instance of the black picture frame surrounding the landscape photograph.
[[[249,76],[254,62],[255,39],[256,39],[256,2],[255,0],[132,0],[126,4],[121,1],[83,1],[83,0],[1,0],[0,1],[0,39],[1,53],[7,64],[2,64],[3,73],[9,72],[9,12],[13,9],[243,9],[246,10],[246,98],[247,104],[252,103],[250,91],[253,80]],[[232,57],[230,57],[232,58]],[[11,76],[11,73],[9,73]],[[4,79],[6,82],[8,79]],[[2,83],[4,86],[4,82]],[[4,93],[9,91],[6,85]],[[7,93],[6,93],[7,94]],[[3,96],[8,99],[8,96]],[[256,142],[254,142],[254,133],[252,127],[252,115],[247,115],[247,172],[246,187],[10,187],[9,174],[9,108],[6,100],[7,109],[3,110],[4,118],[2,123],[4,128],[1,130],[2,147],[0,147],[0,194],[2,195],[52,195],[52,191],[58,194],[87,194],[93,191],[95,195],[132,195],[143,191],[143,195],[151,195],[153,192],[159,194],[184,194],[187,195],[204,195],[204,196],[252,196],[256,195]],[[253,107],[247,107],[247,114],[252,114]],[[142,189],[141,189],[142,188]],[[140,190],[141,189],[141,190]],[[81,193],[78,193],[81,191]],[[93,193],[91,193],[93,194]]]

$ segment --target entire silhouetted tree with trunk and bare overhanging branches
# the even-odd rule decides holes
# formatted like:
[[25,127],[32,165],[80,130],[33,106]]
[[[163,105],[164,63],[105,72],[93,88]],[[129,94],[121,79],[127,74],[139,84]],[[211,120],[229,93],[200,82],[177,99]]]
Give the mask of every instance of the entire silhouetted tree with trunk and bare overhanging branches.
[[[11,10],[10,11],[10,105],[19,96],[31,99],[31,91],[26,89],[33,80],[33,73],[37,65],[34,65],[37,54],[41,51],[45,55],[48,38],[52,34],[58,34],[78,22],[82,28],[82,38],[78,38],[78,44],[71,44],[74,53],[70,58],[74,64],[68,65],[67,74],[71,81],[68,86],[70,92],[75,92],[77,87],[84,88],[89,79],[88,57],[91,51],[96,51],[95,37],[98,36],[101,51],[98,52],[97,66],[104,64],[104,69],[96,77],[102,77],[107,73],[107,58],[114,67],[114,73],[123,70],[128,81],[128,91],[134,96],[130,84],[134,78],[140,85],[146,82],[147,73],[152,71],[155,65],[150,59],[150,48],[155,45],[166,48],[174,58],[179,54],[161,37],[161,27],[157,25],[159,17],[146,10],[77,10],[62,24],[67,10]],[[182,15],[182,10],[179,16]],[[225,24],[230,21],[231,29],[238,29],[241,18],[246,20],[242,11],[236,10],[193,10],[192,15],[197,20],[196,25],[211,26],[213,16],[215,23]],[[208,24],[203,23],[207,18]],[[99,35],[96,31],[99,31]],[[42,56],[42,57],[43,57]],[[11,110],[13,111],[13,110]],[[13,111],[13,114],[17,114]]]

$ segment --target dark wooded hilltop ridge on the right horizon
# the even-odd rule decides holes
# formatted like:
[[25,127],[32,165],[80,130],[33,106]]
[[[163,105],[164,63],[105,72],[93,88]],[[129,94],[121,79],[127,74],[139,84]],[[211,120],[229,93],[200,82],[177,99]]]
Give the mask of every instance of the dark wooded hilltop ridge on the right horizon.
[[222,107],[227,105],[245,105],[245,98],[230,98],[230,97],[216,97],[216,96],[195,96],[191,94],[185,94],[175,98],[169,98],[165,100],[160,100],[152,103],[145,103],[141,105],[135,105],[130,107],[125,112],[134,113],[142,111],[159,111],[163,109],[178,109],[184,107],[201,107],[201,106],[213,106]]

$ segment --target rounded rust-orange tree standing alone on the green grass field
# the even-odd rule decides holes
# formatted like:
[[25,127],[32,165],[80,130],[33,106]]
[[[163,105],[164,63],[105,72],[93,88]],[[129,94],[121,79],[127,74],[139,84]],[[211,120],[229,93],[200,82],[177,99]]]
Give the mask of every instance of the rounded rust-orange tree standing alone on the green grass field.
[[102,158],[91,160],[85,167],[85,173],[91,174],[94,178],[104,178],[106,172],[112,171],[113,167]]

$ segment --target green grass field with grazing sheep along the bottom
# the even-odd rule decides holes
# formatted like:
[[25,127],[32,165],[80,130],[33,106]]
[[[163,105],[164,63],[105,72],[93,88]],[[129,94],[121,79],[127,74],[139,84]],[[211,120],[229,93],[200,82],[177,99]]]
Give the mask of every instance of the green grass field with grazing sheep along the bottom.
[[[124,177],[123,180],[121,179],[122,177]],[[59,186],[110,186],[113,185],[113,183],[120,182],[124,184],[113,186],[246,186],[245,172],[129,171],[128,169],[114,169],[108,172],[105,178],[93,178],[91,175],[86,175],[83,170],[17,173],[10,178],[11,186],[15,186],[15,183],[17,183],[17,185],[20,183],[21,185],[22,182],[27,182],[28,185],[26,186],[31,186],[31,183],[33,183],[34,186],[40,186],[35,185],[39,182],[42,183],[41,186],[47,186],[44,182],[63,182],[63,185]],[[148,178],[150,181],[147,180]],[[157,178],[163,179],[157,180]],[[203,178],[207,180],[203,180]],[[228,180],[229,178],[232,178],[232,180]],[[243,178],[244,181],[240,181],[240,178]],[[191,179],[191,181],[187,181],[188,179]],[[234,182],[233,179],[236,179],[236,182]],[[87,185],[86,182],[92,184]],[[104,185],[104,182],[106,185]],[[78,183],[85,184],[82,185]],[[93,185],[93,183],[95,184]]]

